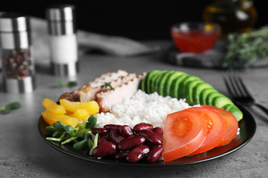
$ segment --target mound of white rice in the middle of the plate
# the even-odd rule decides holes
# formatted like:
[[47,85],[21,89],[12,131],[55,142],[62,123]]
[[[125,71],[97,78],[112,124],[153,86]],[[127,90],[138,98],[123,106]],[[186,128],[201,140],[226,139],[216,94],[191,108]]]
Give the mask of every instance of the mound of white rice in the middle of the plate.
[[157,92],[146,94],[138,90],[132,99],[114,105],[110,112],[98,114],[98,124],[129,125],[134,127],[138,123],[150,123],[154,127],[163,129],[166,115],[188,107],[186,99],[162,97]]

